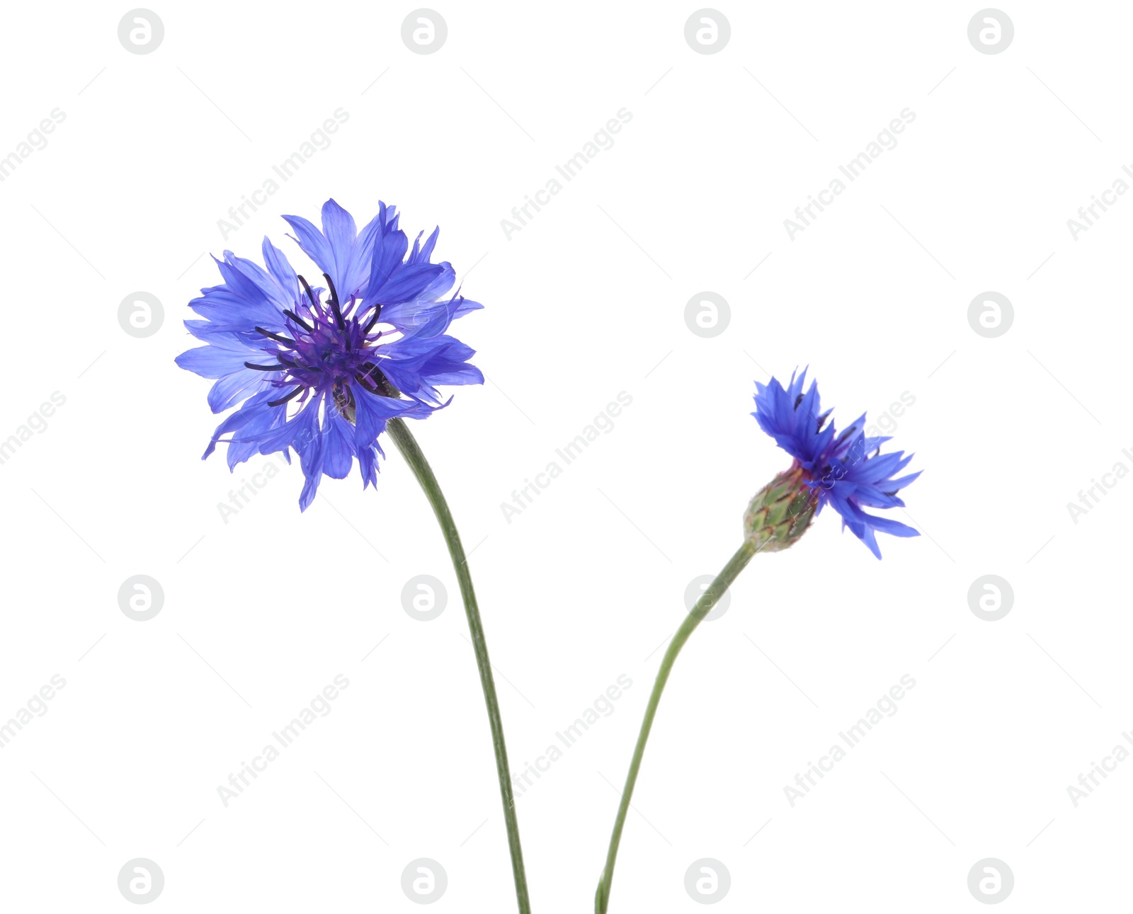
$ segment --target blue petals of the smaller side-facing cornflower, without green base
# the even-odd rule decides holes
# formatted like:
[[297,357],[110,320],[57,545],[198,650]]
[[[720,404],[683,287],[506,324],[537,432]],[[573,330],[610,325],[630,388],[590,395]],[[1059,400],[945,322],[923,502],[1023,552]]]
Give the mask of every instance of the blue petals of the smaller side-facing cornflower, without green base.
[[[784,387],[776,378],[770,384],[756,383],[756,411],[751,413],[759,427],[786,451],[794,462],[783,473],[806,486],[810,496],[806,501],[817,515],[828,504],[842,516],[843,529],[864,543],[878,558],[877,532],[896,537],[915,537],[920,533],[908,524],[876,514],[866,507],[903,507],[897,492],[912,482],[920,472],[897,477],[912,460],[903,451],[881,454],[880,446],[889,436],[866,437],[866,415],[847,429],[837,434],[834,422],[827,422],[830,410],[820,413],[818,386],[806,386],[806,369],[791,376]],[[809,514],[806,524],[809,524]],[[801,530],[798,531],[801,535]]]

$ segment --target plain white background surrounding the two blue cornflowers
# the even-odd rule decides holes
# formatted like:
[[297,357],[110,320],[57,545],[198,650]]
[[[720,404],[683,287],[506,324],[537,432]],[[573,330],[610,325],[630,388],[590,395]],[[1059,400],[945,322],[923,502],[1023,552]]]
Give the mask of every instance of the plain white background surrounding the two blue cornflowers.
[[[401,871],[429,857],[435,909],[514,909],[467,625],[404,463],[387,445],[376,492],[324,480],[304,514],[293,467],[225,523],[269,459],[202,462],[208,382],[173,365],[186,302],[219,281],[202,255],[258,257],[265,233],[291,254],[279,214],[330,196],[359,224],[378,199],[440,223],[440,258],[475,265],[485,309],[454,332],[488,383],[414,432],[472,550],[514,767],[632,680],[519,800],[537,911],[590,909],[657,648],[787,463],[753,381],[796,365],[842,422],[915,399],[892,445],[925,473],[895,516],[925,535],[883,537],[878,562],[824,514],[757,557],[678,661],[611,911],[700,909],[700,857],[731,872],[719,911],[980,909],[983,857],[1015,909],[1124,905],[1133,760],[1077,808],[1066,787],[1133,728],[1133,480],[1076,523],[1066,503],[1133,469],[1133,202],[1076,240],[1066,220],[1133,161],[1131,10],[1007,7],[1012,45],[982,54],[976,3],[732,3],[727,46],[699,54],[692,3],[460,3],[419,55],[410,9],[163,2],[145,55],[118,41],[125,5],[3,10],[0,155],[66,119],[0,183],[0,438],[66,404],[0,465],[0,718],[67,683],[0,750],[5,908],[125,909],[118,871],[147,857],[154,909],[414,911]],[[332,145],[223,240],[340,108]],[[508,240],[622,108],[614,146]],[[900,144],[791,240],[794,207],[905,108]],[[164,306],[146,339],[118,324],[137,290]],[[704,290],[731,306],[714,339],[684,323]],[[1014,305],[997,339],[966,317],[988,290]],[[613,430],[506,522],[622,391]],[[118,606],[135,574],[164,589],[148,622]],[[401,607],[416,574],[449,587],[436,621]],[[985,574],[1014,589],[998,622],[969,608]],[[218,785],[337,674],[332,712],[224,808]],[[784,786],[903,674],[895,716],[792,808]]]

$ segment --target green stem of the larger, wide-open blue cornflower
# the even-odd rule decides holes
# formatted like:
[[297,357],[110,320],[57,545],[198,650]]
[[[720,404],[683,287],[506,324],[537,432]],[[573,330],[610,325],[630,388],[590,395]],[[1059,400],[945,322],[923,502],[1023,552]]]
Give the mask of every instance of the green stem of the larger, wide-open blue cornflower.
[[492,664],[488,661],[488,646],[484,638],[484,625],[480,622],[480,610],[476,605],[476,592],[472,590],[472,576],[468,572],[468,558],[465,547],[460,545],[460,533],[452,520],[449,504],[444,501],[441,487],[437,485],[433,470],[425,460],[417,439],[402,419],[390,419],[387,425],[390,437],[398,445],[401,455],[409,463],[417,481],[425,489],[425,496],[433,506],[441,532],[449,546],[452,565],[460,582],[460,596],[465,600],[465,614],[468,616],[468,629],[472,635],[472,648],[476,652],[476,666],[480,672],[480,686],[484,689],[484,703],[488,709],[488,724],[492,727],[492,749],[496,757],[496,774],[500,776],[500,795],[503,798],[503,818],[508,826],[508,848],[511,851],[511,869],[516,878],[516,898],[520,914],[530,914],[531,903],[527,898],[527,874],[523,872],[523,848],[519,844],[519,822],[516,819],[516,798],[511,791],[511,772],[508,770],[508,748],[503,738],[503,721],[500,719],[500,702],[496,700],[495,682],[492,678]]

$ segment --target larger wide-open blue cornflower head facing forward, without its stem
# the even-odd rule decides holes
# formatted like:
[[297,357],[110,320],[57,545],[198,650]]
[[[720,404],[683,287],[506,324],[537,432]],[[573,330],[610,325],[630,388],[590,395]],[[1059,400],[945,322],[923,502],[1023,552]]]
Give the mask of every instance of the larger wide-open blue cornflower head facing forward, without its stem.
[[386,421],[423,419],[448,405],[437,385],[484,382],[468,364],[474,350],[445,333],[483,306],[459,293],[442,298],[455,272],[431,263],[440,229],[424,244],[418,234],[409,250],[395,208],[378,207],[360,232],[333,199],[323,205],[322,231],[283,216],[325,288],[297,274],[264,238],[264,266],[225,250],[216,260],[223,283],[189,302],[205,319],[185,326],[206,345],[182,352],[177,364],[215,378],[213,412],[242,401],[204,456],[223,441],[232,469],[257,453],[281,451],[290,461],[293,450],[306,477],[301,510],[324,473],[342,479],[353,460],[363,486],[376,485]]

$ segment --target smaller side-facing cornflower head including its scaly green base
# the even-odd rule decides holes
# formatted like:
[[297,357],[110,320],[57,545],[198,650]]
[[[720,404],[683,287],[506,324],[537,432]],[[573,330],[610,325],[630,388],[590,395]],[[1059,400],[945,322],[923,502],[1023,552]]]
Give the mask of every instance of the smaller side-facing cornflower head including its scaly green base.
[[[912,460],[903,451],[881,454],[889,436],[866,437],[866,415],[837,434],[830,411],[819,413],[818,387],[813,382],[803,393],[807,373],[784,387],[776,378],[756,384],[759,427],[794,458],[791,469],[752,499],[744,526],[760,547],[786,548],[794,543],[828,504],[841,516],[843,529],[864,543],[878,558],[877,532],[897,537],[920,533],[908,524],[876,514],[866,507],[903,507],[897,492],[920,472],[898,473]],[[806,497],[803,497],[806,496]]]

